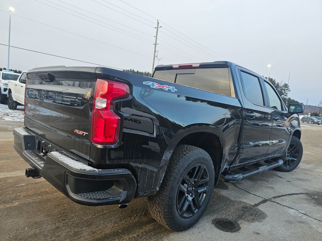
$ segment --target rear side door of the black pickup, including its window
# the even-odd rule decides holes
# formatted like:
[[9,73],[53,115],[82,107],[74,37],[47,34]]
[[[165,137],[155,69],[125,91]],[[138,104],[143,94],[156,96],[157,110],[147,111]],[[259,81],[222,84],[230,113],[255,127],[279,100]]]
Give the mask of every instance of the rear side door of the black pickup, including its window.
[[236,67],[244,104],[242,129],[242,152],[238,164],[265,158],[269,149],[272,114],[265,106],[266,95],[260,84],[260,76],[241,67]]

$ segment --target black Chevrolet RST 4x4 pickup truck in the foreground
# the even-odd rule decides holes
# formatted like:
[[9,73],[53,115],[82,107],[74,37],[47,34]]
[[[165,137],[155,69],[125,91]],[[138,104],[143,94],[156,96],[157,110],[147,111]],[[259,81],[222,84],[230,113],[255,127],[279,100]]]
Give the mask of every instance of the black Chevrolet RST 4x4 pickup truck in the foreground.
[[300,112],[265,78],[226,61],[157,66],[152,78],[35,68],[14,148],[31,165],[27,177],[44,177],[72,201],[124,208],[148,196],[151,215],[181,231],[200,219],[220,174],[237,182],[295,169]]

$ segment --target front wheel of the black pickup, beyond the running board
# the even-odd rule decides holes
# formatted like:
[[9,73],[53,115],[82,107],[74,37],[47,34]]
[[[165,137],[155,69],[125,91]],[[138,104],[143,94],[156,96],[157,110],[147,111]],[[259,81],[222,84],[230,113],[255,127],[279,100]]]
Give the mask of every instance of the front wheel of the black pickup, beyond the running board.
[[275,168],[277,171],[291,172],[298,166],[298,164],[300,164],[303,156],[303,146],[298,138],[292,136],[287,151],[287,157],[283,165]]

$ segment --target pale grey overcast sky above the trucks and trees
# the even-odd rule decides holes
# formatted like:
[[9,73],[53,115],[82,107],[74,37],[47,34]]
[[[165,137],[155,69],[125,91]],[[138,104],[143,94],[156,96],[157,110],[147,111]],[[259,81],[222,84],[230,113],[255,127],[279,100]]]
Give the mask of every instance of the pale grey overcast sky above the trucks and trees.
[[[270,64],[270,77],[279,82],[287,82],[290,72],[289,97],[304,104],[308,99],[312,105],[322,100],[321,0],[122,1],[1,0],[0,43],[8,44],[8,9],[13,6],[11,46],[151,71],[158,18],[160,64],[228,59],[263,76],[268,75]],[[7,67],[7,56],[8,47],[0,45],[0,67]],[[54,65],[92,66],[10,48],[10,68]]]

